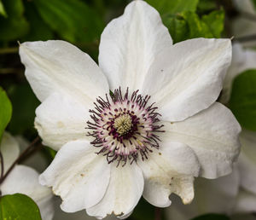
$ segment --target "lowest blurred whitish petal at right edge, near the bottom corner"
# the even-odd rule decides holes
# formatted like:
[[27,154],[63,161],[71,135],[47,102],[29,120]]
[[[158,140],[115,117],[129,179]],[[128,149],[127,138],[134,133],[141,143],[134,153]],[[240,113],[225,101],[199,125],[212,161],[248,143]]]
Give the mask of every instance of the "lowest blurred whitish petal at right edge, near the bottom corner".
[[256,194],[252,194],[247,190],[240,189],[236,198],[236,212],[255,212],[256,211]]

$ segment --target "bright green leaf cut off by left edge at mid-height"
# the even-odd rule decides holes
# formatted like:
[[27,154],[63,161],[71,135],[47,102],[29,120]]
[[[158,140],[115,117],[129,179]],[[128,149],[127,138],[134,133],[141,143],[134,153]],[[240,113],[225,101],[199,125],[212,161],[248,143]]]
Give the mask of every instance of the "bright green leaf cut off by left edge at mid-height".
[[0,87],[0,140],[12,116],[12,105],[5,91]]

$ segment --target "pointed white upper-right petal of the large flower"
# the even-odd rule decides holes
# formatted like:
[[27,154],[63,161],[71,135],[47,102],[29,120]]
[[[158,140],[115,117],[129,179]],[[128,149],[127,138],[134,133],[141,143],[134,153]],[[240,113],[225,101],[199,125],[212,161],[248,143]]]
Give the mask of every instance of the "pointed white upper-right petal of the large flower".
[[217,100],[231,61],[230,39],[196,38],[166,47],[143,84],[163,120],[178,121]]

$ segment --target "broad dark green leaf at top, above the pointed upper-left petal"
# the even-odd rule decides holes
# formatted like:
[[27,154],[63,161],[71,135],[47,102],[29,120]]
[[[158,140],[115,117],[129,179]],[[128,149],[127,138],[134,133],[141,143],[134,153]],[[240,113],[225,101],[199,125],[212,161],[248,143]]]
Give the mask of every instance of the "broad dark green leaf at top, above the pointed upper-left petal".
[[73,43],[98,40],[104,27],[99,14],[79,0],[34,0],[43,20]]

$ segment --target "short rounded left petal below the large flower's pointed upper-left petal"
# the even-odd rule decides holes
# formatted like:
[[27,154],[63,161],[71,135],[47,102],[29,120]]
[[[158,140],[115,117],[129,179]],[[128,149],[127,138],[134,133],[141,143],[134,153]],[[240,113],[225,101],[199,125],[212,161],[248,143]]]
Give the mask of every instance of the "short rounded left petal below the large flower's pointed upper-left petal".
[[36,110],[35,127],[44,144],[59,150],[67,142],[85,139],[89,110],[70,96],[53,93]]

